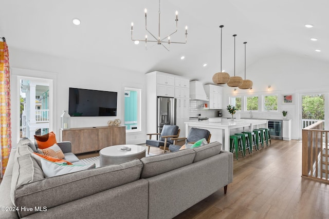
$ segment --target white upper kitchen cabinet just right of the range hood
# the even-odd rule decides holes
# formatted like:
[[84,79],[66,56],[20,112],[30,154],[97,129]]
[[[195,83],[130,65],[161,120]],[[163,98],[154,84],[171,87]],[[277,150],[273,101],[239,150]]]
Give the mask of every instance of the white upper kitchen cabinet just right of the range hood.
[[223,87],[205,85],[205,91],[209,99],[209,109],[223,109]]

